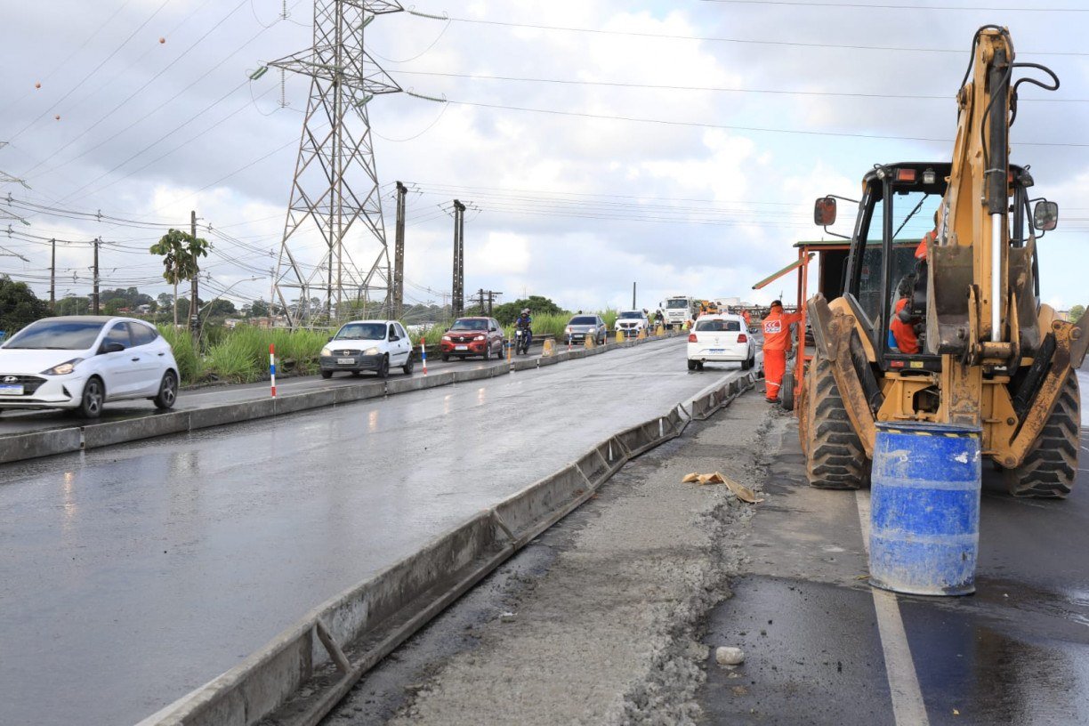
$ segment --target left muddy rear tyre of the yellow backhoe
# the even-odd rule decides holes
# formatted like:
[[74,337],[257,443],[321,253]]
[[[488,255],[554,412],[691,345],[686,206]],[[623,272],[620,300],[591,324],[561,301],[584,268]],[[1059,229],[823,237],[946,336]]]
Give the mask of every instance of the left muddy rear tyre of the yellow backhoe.
[[860,489],[866,478],[866,453],[855,433],[832,364],[813,358],[806,387],[806,477],[817,489]]

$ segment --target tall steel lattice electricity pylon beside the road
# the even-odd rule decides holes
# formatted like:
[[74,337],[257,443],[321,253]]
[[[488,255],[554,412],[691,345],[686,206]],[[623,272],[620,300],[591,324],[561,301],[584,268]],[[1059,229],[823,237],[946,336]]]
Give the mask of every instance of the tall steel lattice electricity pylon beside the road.
[[[318,291],[330,324],[348,299],[365,309],[375,305],[376,312],[378,305],[390,309],[390,255],[367,103],[401,87],[367,53],[364,29],[376,16],[403,10],[393,0],[315,0],[314,47],[269,63],[310,77],[274,278],[293,327],[314,324],[319,311],[310,299]],[[356,222],[364,227],[355,247],[359,266],[345,238]],[[313,266],[301,255],[316,238],[325,249]]]

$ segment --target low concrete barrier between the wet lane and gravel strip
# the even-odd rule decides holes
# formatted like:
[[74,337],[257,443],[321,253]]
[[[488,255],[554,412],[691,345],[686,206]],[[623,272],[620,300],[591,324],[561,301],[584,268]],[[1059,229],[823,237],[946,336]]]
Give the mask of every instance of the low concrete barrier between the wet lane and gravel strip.
[[673,439],[678,405],[600,442],[555,473],[481,512],[306,614],[257,653],[138,726],[314,725],[382,657],[627,460]]

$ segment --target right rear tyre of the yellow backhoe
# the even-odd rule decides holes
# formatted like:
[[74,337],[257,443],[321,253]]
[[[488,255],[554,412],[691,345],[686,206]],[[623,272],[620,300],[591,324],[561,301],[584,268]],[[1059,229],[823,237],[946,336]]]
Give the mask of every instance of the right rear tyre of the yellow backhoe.
[[1005,470],[1006,488],[1014,496],[1061,500],[1070,493],[1078,472],[1078,430],[1081,395],[1077,373],[1070,371],[1055,408],[1021,465]]

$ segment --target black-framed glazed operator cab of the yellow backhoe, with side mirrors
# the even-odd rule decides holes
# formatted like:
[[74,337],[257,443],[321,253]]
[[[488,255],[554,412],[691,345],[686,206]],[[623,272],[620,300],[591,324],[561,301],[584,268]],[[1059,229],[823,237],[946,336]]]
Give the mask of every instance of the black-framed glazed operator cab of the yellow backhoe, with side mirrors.
[[[862,180],[862,198],[843,271],[843,296],[866,331],[878,365],[889,371],[939,371],[941,356],[927,345],[927,261],[920,249],[923,237],[929,245],[947,244],[943,207],[946,180],[952,170],[949,162],[902,162],[874,165]],[[1011,165],[1013,204],[1011,205],[1011,246],[1024,247],[1032,227],[1054,229],[1057,209],[1054,202],[1037,205],[1029,214],[1028,170]],[[1013,183],[1016,181],[1016,183]],[[843,199],[843,197],[839,197]],[[825,227],[835,221],[836,197],[822,197],[815,207],[815,222]],[[847,200],[854,202],[854,200]],[[1048,224],[1050,226],[1041,226]],[[836,235],[845,236],[845,235]],[[1032,278],[1038,280],[1037,260],[1032,256]],[[1039,303],[1039,284],[1035,294]],[[897,305],[906,298],[904,312]],[[890,323],[898,318],[914,329],[918,353],[909,354],[896,347]],[[904,328],[900,331],[903,333]]]

